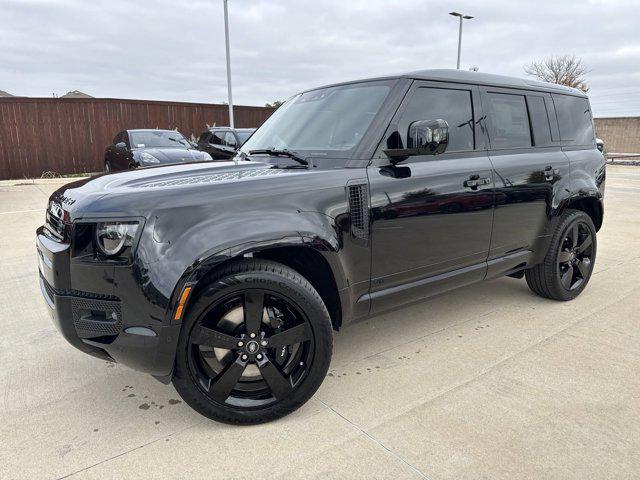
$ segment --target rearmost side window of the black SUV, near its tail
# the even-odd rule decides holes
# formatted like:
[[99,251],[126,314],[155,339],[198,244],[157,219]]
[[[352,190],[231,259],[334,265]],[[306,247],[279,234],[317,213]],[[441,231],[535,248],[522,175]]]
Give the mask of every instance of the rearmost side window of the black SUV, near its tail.
[[593,121],[586,98],[553,94],[560,138],[566,145],[593,145]]

